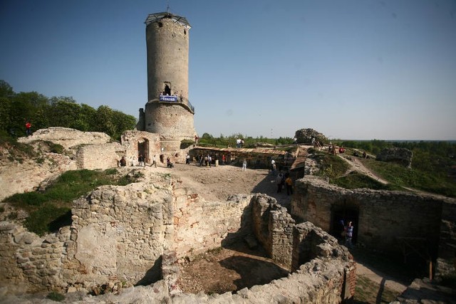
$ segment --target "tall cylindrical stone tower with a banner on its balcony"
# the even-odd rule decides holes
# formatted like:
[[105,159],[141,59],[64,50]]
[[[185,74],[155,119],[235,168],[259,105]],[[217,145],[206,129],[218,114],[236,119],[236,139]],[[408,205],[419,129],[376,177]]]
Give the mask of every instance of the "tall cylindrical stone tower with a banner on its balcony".
[[145,21],[147,43],[147,103],[140,109],[138,130],[163,139],[195,137],[195,108],[188,100],[188,50],[190,23],[163,12]]

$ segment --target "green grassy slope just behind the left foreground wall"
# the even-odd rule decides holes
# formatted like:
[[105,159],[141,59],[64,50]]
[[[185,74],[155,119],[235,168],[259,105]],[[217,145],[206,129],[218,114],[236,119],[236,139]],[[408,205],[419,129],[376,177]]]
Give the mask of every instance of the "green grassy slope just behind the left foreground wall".
[[40,236],[71,224],[71,204],[83,194],[104,184],[126,185],[137,181],[142,172],[118,176],[117,169],[77,170],[63,173],[43,192],[14,194],[4,199],[28,213],[24,226]]

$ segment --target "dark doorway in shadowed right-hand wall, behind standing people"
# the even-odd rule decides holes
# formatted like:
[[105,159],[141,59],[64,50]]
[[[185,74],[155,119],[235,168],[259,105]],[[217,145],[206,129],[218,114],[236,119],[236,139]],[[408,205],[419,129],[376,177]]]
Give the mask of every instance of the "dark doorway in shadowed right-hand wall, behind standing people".
[[358,219],[359,210],[354,206],[333,206],[331,211],[331,229],[330,234],[335,236],[337,239],[341,239],[341,221],[343,225],[347,226],[348,222],[353,224],[353,237],[351,239],[352,243],[356,243],[358,239]]

